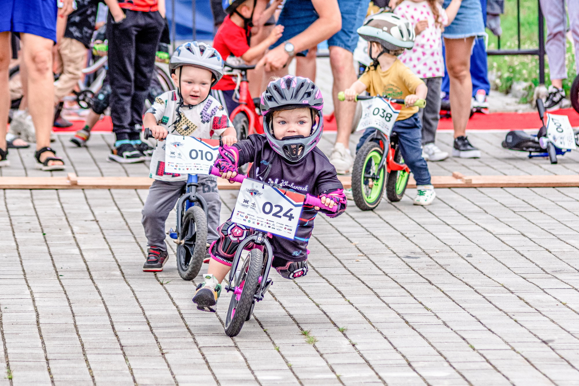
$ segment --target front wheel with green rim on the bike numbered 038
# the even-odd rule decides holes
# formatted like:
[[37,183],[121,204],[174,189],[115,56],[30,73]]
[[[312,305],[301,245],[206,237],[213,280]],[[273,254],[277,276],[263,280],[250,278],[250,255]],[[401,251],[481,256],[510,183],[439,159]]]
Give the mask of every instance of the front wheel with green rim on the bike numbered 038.
[[[382,153],[382,148],[374,141],[368,141],[356,152],[352,169],[352,195],[360,210],[373,210],[382,199],[386,167],[376,171]],[[378,179],[365,177],[369,172],[378,174]]]

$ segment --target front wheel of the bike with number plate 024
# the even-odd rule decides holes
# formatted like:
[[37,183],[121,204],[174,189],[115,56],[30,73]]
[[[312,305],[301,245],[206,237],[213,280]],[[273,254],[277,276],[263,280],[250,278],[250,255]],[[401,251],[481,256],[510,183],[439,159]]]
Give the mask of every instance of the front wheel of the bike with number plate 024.
[[[247,260],[250,260],[249,263]],[[259,275],[262,271],[263,253],[259,249],[252,249],[245,258],[244,264],[235,276],[233,287],[237,288],[243,283],[243,289],[237,300],[236,294],[233,293],[229,301],[229,309],[225,318],[225,333],[228,336],[237,336],[243,327],[243,323],[248,319],[254,295],[258,289]],[[233,314],[233,315],[232,315]]]

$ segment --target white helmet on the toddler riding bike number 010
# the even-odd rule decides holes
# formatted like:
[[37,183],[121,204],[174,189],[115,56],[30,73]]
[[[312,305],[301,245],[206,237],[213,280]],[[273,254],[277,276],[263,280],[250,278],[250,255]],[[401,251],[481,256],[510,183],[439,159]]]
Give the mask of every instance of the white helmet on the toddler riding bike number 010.
[[202,42],[187,42],[175,49],[169,68],[176,70],[183,65],[205,68],[213,73],[214,81],[211,87],[223,77],[223,59],[216,49]]

